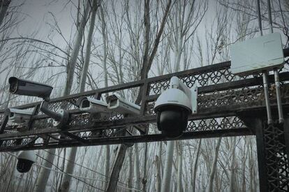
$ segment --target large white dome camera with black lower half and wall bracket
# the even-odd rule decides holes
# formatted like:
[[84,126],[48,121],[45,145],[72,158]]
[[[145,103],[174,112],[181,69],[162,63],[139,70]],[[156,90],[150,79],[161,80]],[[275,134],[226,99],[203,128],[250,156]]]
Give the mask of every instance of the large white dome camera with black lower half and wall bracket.
[[188,88],[177,77],[156,99],[157,127],[167,138],[178,138],[188,125],[188,115],[197,113],[198,88]]

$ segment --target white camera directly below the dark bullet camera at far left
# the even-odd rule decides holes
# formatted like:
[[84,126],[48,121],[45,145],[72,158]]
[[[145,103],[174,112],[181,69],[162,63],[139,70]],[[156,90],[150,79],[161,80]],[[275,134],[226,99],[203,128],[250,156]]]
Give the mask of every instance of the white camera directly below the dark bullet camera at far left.
[[9,109],[10,115],[9,120],[15,123],[23,123],[30,120],[32,111],[27,111],[23,109]]

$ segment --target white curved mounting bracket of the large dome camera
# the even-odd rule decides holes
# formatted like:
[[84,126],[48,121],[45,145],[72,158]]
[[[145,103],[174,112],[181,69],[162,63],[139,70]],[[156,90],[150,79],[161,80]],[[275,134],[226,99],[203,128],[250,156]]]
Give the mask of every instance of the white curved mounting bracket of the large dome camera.
[[170,79],[170,88],[178,88],[184,91],[186,96],[190,99],[192,114],[197,113],[197,97],[198,97],[198,87],[193,86],[193,88],[188,88],[178,77],[172,77]]

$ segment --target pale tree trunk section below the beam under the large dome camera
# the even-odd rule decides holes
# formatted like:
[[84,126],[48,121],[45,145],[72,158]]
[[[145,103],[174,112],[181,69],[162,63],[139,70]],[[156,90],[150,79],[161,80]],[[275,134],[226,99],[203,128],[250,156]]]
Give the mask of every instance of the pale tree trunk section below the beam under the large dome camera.
[[170,191],[170,179],[172,177],[172,159],[174,156],[175,141],[168,141],[167,154],[165,157],[165,170],[163,170],[163,182],[161,184],[161,192]]

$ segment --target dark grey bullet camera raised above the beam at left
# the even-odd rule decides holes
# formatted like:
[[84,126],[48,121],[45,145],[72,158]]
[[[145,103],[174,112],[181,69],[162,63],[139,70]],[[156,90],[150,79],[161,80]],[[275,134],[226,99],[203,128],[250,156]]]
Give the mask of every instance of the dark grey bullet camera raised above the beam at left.
[[52,86],[34,81],[27,81],[16,77],[9,78],[10,93],[17,95],[36,96],[43,99],[48,99],[52,92]]

